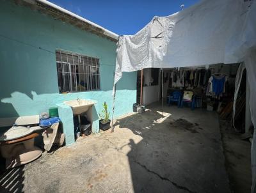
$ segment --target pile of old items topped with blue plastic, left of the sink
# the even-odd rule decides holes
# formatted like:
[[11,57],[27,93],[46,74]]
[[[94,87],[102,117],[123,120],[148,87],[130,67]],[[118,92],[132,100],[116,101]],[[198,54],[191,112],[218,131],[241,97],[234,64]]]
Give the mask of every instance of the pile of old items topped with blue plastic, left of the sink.
[[48,113],[4,120],[6,124],[1,126],[7,130],[0,135],[0,148],[6,168],[27,164],[42,155],[42,150],[34,144],[40,133],[43,133],[46,151],[51,150],[54,143],[59,146],[64,143],[65,135],[58,131],[60,118],[49,118]]

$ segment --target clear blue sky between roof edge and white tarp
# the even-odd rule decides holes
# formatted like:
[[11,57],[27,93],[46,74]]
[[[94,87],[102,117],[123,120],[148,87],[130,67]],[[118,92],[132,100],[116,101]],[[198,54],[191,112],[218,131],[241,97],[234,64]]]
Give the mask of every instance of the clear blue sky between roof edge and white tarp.
[[154,15],[166,16],[179,12],[199,0],[48,0],[70,12],[99,24],[118,35],[134,35]]

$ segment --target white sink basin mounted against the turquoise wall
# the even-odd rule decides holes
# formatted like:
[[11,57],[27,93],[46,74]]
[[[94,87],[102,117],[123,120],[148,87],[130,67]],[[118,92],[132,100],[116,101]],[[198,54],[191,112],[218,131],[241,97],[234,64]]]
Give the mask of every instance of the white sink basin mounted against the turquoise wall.
[[85,99],[68,100],[64,103],[72,108],[73,114],[82,114],[83,112],[86,112],[94,104],[92,100]]

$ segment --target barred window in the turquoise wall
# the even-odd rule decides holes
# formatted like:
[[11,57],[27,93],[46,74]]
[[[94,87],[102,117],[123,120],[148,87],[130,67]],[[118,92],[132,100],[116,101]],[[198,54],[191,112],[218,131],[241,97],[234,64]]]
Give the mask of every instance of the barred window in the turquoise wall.
[[100,89],[98,58],[57,50],[56,62],[60,93]]

